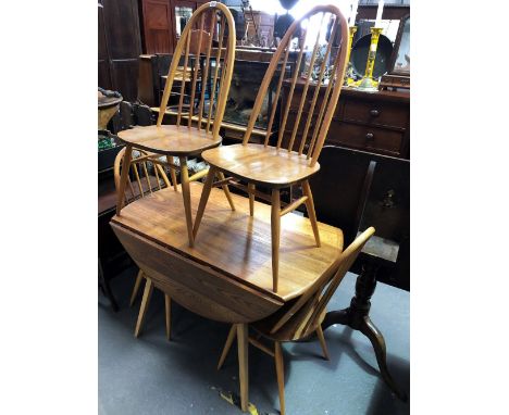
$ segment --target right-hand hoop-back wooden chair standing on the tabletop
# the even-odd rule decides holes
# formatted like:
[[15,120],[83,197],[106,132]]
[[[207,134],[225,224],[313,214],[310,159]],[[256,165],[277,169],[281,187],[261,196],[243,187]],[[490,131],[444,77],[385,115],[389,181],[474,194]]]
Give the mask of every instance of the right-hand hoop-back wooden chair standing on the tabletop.
[[[302,24],[306,24],[303,29],[301,29]],[[324,38],[326,38],[327,27],[331,28],[330,40],[325,41]],[[313,49],[310,55],[307,74],[298,79],[308,33],[311,32],[312,28],[314,28],[316,33],[311,39]],[[273,105],[269,117],[264,143],[249,143],[254,123],[260,115],[262,103],[270,89],[270,84],[273,81],[274,74],[277,73],[277,67],[281,66],[281,75],[278,79],[274,79],[277,87],[273,100],[274,102],[278,100],[283,77],[286,72],[285,67],[288,61],[288,54],[291,49],[291,41],[297,32],[301,34],[298,47],[298,59],[291,77],[286,105],[282,109],[277,143],[275,147],[269,146],[276,105]],[[339,34],[340,36],[338,36]],[[323,45],[322,48],[321,45]],[[335,45],[338,46],[336,47]],[[277,291],[281,217],[283,215],[294,211],[300,204],[306,203],[308,215],[313,227],[314,239],[316,246],[320,247],[320,235],[316,215],[314,213],[313,197],[308,179],[320,169],[316,160],[325,141],[328,126],[342,90],[347,47],[348,24],[339,10],[334,5],[318,5],[311,9],[301,18],[291,24],[281,41],[280,47],[275,51],[254,101],[243,143],[211,149],[201,154],[203,160],[209,163],[211,167],[195,218],[195,238],[203,216],[210,189],[214,186],[214,176],[218,175],[218,173],[226,173],[228,177],[224,180],[220,180],[215,185],[228,184],[234,178],[248,183],[245,189],[249,193],[251,216],[253,215],[253,201],[254,194],[257,193],[256,186],[263,186],[264,188],[271,189],[272,273],[274,291]],[[319,48],[322,50],[321,53],[319,53]],[[321,58],[316,60],[319,54]],[[321,62],[318,64],[320,60]],[[327,62],[330,61],[332,65],[327,68]],[[315,67],[316,64],[318,67]],[[325,71],[327,71],[328,77],[325,76]],[[316,77],[314,80],[311,79],[313,74]],[[288,123],[291,129],[289,142],[286,147],[283,147],[283,136],[288,128],[288,114],[290,105],[293,104],[294,91],[297,84],[299,84],[299,88],[302,88],[301,98],[298,106],[296,106],[297,113],[295,121]],[[302,117],[305,105],[308,114]],[[297,136],[299,136],[299,139],[297,139]],[[303,196],[282,209],[280,190],[293,185],[300,185]]]

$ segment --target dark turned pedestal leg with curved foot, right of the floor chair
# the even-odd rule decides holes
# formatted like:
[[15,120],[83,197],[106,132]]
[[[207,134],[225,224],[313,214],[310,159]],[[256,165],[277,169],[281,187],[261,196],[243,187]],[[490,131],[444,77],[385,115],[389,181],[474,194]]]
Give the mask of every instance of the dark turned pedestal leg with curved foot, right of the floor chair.
[[382,378],[401,401],[407,401],[407,394],[396,386],[388,372],[384,337],[370,319],[370,300],[376,287],[376,269],[377,267],[371,264],[362,266],[356,282],[356,295],[351,299],[350,306],[328,312],[322,323],[322,329],[325,330],[333,324],[343,324],[368,337],[375,351]]

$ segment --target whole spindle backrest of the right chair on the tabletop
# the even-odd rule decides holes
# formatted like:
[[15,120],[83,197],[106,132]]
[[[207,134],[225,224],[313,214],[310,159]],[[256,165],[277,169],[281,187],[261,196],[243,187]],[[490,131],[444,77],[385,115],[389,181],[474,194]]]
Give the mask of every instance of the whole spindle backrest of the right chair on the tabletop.
[[[302,28],[305,22],[307,25]],[[323,40],[325,38],[325,28],[331,32],[326,45]],[[316,38],[314,38],[314,30],[318,32],[315,35]],[[307,56],[309,60],[308,72],[306,76],[299,79],[302,55],[306,52],[307,47],[306,39],[308,34],[311,32],[313,32],[314,43],[312,43],[310,54]],[[254,123],[260,115],[263,101],[271,86],[271,79],[276,72],[280,60],[283,53],[285,53],[283,62],[284,65],[286,65],[287,54],[291,48],[291,40],[298,33],[301,34],[299,36],[300,42],[298,47],[298,58],[291,79],[285,81],[288,83],[287,93],[285,97],[286,103],[284,108],[282,108],[280,131],[275,146],[277,149],[285,147],[288,152],[291,152],[294,151],[294,147],[297,144],[296,150],[298,151],[298,154],[302,155],[306,152],[309,164],[312,166],[316,163],[328,131],[331,120],[339,99],[346,65],[349,29],[345,16],[334,5],[314,7],[300,17],[300,20],[294,22],[286,32],[280,47],[272,56],[271,63],[269,64],[265,76],[260,86],[246,134],[244,136],[243,144],[246,146],[249,142]],[[315,65],[318,66],[318,71],[314,71]],[[274,99],[275,105],[280,98],[280,91],[282,88],[281,76],[284,74],[284,70],[285,68],[283,67],[283,72],[277,81]],[[316,72],[319,74],[318,77],[315,77]],[[311,103],[309,103],[308,96],[311,98],[309,91],[313,87],[314,90]],[[295,93],[296,89],[298,89],[301,95],[299,98],[300,101],[294,103],[294,97],[297,96]],[[269,93],[272,92],[269,91]],[[272,129],[275,105],[269,117],[269,128],[264,140],[265,146],[269,144],[269,136]],[[293,117],[293,109],[297,110],[295,117]],[[287,130],[287,125],[290,120],[291,126],[289,126]],[[306,120],[306,122],[302,120]],[[313,123],[314,125],[311,128]],[[313,134],[310,134],[311,137],[308,137],[310,129],[312,129]],[[302,131],[302,134],[300,134],[300,131]],[[285,138],[287,134],[289,134],[288,140]]]

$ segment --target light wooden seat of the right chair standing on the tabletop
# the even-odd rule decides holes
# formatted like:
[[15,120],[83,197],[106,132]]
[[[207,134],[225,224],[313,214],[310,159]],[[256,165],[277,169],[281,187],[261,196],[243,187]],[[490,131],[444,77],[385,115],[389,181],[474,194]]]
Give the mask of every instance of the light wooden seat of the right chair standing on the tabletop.
[[203,160],[233,176],[274,188],[301,181],[320,169],[309,166],[306,154],[263,144],[224,146],[204,151]]

